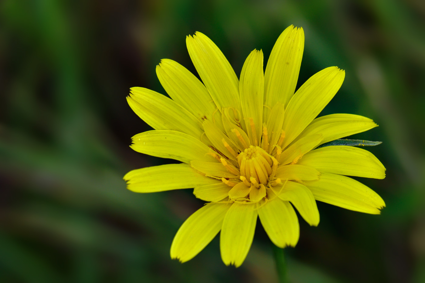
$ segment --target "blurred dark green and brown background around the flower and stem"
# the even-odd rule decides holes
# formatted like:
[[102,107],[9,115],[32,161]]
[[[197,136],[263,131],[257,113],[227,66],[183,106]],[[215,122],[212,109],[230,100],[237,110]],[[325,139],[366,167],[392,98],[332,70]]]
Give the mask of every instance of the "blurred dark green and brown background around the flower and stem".
[[292,282],[425,282],[425,2],[422,0],[3,0],[0,2],[0,282],[276,282],[258,225],[238,269],[215,238],[188,263],[173,236],[203,202],[192,190],[127,191],[127,171],[172,162],[131,150],[149,130],[129,88],[164,93],[162,58],[190,71],[185,36],[201,31],[240,74],[266,62],[288,25],[302,26],[300,85],[332,65],[345,82],[320,115],[354,113],[380,127],[353,136],[387,168],[361,179],[382,215],[318,203],[287,248]]

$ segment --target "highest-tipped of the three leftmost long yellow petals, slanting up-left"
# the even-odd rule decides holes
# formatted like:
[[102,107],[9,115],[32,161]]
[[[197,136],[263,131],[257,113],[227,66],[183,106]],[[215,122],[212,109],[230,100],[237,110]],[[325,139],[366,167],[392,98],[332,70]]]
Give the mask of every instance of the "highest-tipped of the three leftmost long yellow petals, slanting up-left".
[[155,130],[176,130],[200,139],[201,122],[172,99],[147,88],[131,88],[127,102]]

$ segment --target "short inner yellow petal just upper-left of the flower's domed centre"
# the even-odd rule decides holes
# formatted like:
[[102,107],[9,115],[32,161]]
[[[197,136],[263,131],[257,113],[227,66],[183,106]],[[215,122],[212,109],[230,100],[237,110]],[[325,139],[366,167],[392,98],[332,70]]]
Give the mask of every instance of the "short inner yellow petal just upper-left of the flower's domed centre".
[[[204,131],[207,138],[216,149],[232,160],[236,160],[236,145],[212,122],[204,121]],[[226,142],[226,145],[224,144]]]

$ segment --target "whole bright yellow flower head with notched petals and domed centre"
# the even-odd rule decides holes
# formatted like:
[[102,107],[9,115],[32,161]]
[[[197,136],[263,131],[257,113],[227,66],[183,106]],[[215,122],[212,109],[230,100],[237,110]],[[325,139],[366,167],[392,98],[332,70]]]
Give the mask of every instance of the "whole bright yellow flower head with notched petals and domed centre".
[[263,52],[249,54],[236,76],[220,49],[204,34],[186,38],[203,83],[170,59],[156,74],[171,97],[131,88],[127,101],[155,130],[133,136],[140,153],[183,163],[132,170],[124,176],[134,192],[194,188],[208,201],[178,230],[171,258],[192,259],[220,233],[221,258],[240,266],[254,237],[257,216],[276,246],[295,246],[295,207],[310,225],[319,224],[316,201],[379,214],[377,193],[346,177],[385,178],[370,152],[320,144],[377,125],[352,114],[314,119],[343,83],[337,67],[314,74],[295,93],[304,48],[302,28],[286,28],[263,73]]

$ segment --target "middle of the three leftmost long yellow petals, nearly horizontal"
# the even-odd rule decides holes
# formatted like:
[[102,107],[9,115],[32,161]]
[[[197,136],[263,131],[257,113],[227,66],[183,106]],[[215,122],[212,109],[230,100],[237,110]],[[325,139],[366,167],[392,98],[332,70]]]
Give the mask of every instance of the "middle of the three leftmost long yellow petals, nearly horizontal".
[[131,148],[140,153],[173,158],[189,163],[191,160],[217,162],[207,153],[210,147],[186,133],[171,130],[152,130],[133,136]]

